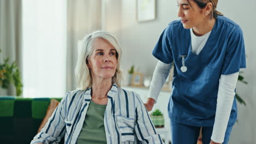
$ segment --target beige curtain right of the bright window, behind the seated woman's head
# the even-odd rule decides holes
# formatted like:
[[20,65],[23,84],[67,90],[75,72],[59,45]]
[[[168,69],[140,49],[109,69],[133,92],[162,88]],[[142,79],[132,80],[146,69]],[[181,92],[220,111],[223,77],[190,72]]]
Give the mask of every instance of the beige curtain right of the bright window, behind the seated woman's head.
[[67,4],[67,91],[76,88],[74,75],[78,41],[101,29],[101,0],[68,0]]

